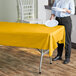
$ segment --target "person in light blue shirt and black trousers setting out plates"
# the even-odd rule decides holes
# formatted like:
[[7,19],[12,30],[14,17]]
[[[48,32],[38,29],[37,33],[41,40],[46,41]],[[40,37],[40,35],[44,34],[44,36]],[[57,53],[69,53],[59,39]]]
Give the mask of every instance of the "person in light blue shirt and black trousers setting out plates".
[[[63,63],[67,64],[70,62],[71,56],[72,20],[70,16],[75,13],[74,0],[55,0],[53,7],[65,10],[63,12],[52,10],[50,20],[54,19],[56,16],[56,20],[59,22],[59,25],[65,27],[65,60]],[[57,56],[53,58],[53,61],[62,60],[63,47],[64,44],[58,44]]]

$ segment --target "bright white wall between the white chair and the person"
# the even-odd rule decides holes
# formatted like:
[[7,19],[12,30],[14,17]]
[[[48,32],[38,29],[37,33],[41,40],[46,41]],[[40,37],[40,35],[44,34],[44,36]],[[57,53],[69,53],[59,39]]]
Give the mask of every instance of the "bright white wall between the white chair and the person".
[[38,19],[43,23],[49,19],[49,15],[51,15],[51,10],[46,10],[45,5],[48,5],[48,0],[38,0]]

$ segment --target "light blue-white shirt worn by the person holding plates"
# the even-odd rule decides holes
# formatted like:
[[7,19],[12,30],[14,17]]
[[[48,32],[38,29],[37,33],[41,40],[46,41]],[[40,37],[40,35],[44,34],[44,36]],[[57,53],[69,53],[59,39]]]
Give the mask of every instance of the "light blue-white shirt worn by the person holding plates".
[[53,7],[67,8],[68,10],[71,11],[71,13],[64,13],[52,10],[52,14],[55,14],[56,17],[67,17],[75,13],[74,0],[55,0]]

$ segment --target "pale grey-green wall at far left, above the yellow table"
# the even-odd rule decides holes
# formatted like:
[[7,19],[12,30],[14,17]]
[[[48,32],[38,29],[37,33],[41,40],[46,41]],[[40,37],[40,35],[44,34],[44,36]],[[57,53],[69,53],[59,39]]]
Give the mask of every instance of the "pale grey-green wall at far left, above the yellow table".
[[17,21],[16,0],[0,0],[0,22],[1,21]]

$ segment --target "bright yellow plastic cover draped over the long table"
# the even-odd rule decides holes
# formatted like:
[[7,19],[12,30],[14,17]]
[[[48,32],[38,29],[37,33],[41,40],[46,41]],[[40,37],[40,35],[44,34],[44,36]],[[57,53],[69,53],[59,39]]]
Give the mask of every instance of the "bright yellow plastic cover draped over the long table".
[[0,45],[49,49],[49,56],[52,56],[57,42],[65,45],[64,26],[0,22]]

